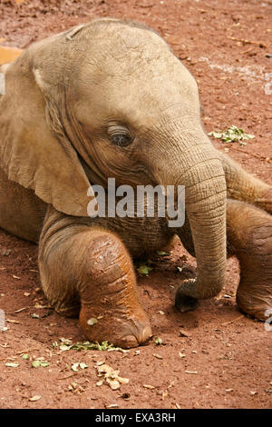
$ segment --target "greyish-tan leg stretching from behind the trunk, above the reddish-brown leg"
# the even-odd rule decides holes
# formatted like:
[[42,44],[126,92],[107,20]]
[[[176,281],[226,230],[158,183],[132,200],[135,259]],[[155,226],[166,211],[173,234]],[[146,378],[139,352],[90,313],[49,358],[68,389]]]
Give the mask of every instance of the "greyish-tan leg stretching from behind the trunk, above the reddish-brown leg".
[[228,198],[255,204],[272,214],[272,187],[248,174],[228,155],[218,152],[227,182]]

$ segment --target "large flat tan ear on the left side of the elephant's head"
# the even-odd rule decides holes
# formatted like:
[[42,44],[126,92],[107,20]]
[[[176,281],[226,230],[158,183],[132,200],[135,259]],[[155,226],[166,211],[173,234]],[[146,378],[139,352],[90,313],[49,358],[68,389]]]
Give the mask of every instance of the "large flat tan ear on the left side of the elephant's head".
[[[78,154],[63,131],[60,105],[56,106],[50,88],[47,90],[51,75],[44,83],[40,73],[50,59],[48,43],[39,43],[5,70],[5,94],[0,96],[0,167],[10,180],[33,189],[58,211],[87,216],[90,195],[94,194]],[[58,59],[53,58],[51,63],[54,86],[59,79],[54,69]],[[45,70],[48,73],[48,67]]]

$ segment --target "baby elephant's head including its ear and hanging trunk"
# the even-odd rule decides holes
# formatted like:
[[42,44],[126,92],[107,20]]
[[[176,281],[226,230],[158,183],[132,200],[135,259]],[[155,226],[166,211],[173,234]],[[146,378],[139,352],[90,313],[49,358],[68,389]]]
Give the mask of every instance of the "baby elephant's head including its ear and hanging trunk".
[[0,156],[9,179],[77,216],[87,216],[90,182],[185,185],[198,261],[188,293],[218,293],[225,177],[200,123],[197,84],[166,42],[143,25],[96,20],[30,46],[5,79]]

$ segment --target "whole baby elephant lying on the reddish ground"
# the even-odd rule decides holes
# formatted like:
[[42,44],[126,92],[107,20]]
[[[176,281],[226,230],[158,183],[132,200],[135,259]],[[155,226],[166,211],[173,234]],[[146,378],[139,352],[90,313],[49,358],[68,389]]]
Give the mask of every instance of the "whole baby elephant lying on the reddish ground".
[[[92,341],[147,342],[131,257],[178,234],[198,263],[197,277],[180,284],[181,313],[220,292],[228,252],[241,267],[238,306],[266,319],[272,189],[210,143],[197,84],[159,35],[95,20],[31,45],[2,72],[0,226],[39,244],[44,293],[58,313],[79,315]],[[158,185],[172,189],[173,207],[185,187],[184,225],[159,214],[159,196],[149,214],[147,192],[140,215],[104,213],[110,178],[119,202]]]

